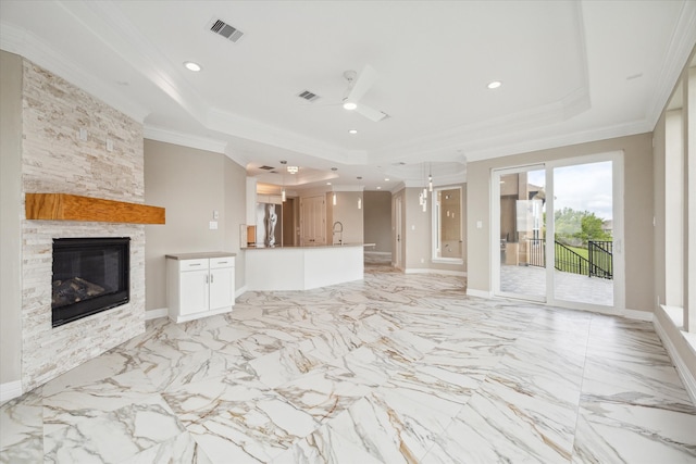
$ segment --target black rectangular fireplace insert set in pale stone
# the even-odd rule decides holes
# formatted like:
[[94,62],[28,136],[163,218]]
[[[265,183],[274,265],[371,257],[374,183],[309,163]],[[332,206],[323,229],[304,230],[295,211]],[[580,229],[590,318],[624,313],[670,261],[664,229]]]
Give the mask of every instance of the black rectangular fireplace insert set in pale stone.
[[53,327],[129,300],[130,238],[53,239]]

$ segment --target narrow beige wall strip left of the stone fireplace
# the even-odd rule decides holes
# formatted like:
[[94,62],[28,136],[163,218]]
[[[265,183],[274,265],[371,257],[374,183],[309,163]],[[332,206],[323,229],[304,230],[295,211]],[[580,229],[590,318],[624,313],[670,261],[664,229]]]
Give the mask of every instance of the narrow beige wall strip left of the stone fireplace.
[[0,51],[0,384],[22,376],[22,58]]

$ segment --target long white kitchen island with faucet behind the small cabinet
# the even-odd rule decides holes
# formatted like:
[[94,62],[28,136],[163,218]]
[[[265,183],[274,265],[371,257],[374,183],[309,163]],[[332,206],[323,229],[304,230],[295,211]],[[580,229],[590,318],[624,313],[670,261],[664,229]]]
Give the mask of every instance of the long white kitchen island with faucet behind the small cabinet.
[[368,244],[247,248],[247,290],[309,290],[361,280]]

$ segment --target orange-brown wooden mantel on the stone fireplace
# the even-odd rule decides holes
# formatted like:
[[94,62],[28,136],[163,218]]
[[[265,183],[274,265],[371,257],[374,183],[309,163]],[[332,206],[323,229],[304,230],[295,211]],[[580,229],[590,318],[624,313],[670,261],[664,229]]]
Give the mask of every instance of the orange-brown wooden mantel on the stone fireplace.
[[164,208],[67,193],[26,193],[27,220],[164,224]]

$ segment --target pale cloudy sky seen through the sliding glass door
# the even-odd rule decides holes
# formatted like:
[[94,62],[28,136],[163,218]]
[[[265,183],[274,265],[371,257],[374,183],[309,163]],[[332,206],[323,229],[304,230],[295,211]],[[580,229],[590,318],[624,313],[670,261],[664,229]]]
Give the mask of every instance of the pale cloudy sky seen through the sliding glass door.
[[[605,221],[612,215],[611,161],[554,168],[554,208],[589,211]],[[529,173],[530,184],[545,186],[545,172]]]

